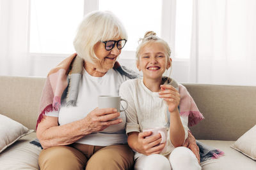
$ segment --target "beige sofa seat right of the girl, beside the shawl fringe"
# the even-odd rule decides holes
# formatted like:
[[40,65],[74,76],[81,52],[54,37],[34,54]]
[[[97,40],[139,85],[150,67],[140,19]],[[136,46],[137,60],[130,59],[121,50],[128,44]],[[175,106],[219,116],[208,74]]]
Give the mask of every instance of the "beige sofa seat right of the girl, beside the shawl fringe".
[[215,141],[215,140],[199,140],[205,145],[212,146],[214,148],[218,148],[225,152],[225,155],[218,159],[207,160],[202,162],[200,165],[202,166],[202,170],[255,170],[256,161],[246,157],[240,152],[230,148],[235,141]]

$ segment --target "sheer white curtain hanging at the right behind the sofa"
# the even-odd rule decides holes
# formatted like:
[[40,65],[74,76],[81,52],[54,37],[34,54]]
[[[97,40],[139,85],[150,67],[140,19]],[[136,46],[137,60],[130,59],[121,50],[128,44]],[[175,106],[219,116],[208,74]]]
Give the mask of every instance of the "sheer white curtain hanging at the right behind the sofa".
[[190,81],[256,85],[256,1],[194,0]]

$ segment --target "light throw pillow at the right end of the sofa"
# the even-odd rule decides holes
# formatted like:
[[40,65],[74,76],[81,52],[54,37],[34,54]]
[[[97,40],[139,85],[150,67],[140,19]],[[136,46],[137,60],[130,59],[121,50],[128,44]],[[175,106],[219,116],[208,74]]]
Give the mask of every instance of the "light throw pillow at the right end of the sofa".
[[243,153],[244,155],[256,160],[256,125],[237,139],[231,148]]

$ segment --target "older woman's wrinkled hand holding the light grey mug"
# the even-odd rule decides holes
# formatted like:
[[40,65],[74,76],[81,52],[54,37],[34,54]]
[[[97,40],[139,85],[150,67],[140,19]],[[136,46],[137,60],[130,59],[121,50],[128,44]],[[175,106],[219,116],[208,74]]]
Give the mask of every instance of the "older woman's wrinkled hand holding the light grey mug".
[[122,118],[118,118],[119,116],[120,113],[115,108],[95,108],[84,118],[84,121],[90,132],[99,132],[109,127],[109,125],[123,122]]

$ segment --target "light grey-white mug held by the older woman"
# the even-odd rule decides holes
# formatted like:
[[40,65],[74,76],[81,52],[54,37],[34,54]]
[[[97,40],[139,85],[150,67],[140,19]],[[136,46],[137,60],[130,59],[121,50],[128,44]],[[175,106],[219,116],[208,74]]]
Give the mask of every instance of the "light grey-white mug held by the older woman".
[[124,110],[120,110],[121,101],[125,101],[120,96],[99,96],[98,107],[99,108],[116,108],[118,112],[127,110],[128,102],[125,101],[126,106]]

